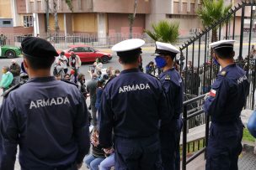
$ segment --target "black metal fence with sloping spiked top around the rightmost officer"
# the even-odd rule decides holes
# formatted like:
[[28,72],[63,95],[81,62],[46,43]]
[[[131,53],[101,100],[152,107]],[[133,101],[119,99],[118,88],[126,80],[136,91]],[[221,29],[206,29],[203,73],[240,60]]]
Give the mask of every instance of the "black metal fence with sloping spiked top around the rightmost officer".
[[[204,94],[211,90],[211,84],[216,80],[220,67],[212,64],[212,52],[209,49],[211,40],[217,33],[217,39],[236,39],[234,45],[236,63],[247,72],[250,82],[250,93],[244,109],[254,110],[254,93],[256,82],[256,49],[253,39],[255,36],[255,1],[246,1],[233,8],[227,16],[221,18],[201,33],[189,39],[180,47],[179,58],[180,72],[184,78],[184,127],[182,145],[182,169],[186,165],[205,152],[209,137],[209,116],[205,116],[202,110]],[[247,25],[245,24],[247,23]],[[216,30],[216,33],[214,32]],[[237,36],[238,35],[238,36]],[[256,45],[256,44],[255,44]],[[190,128],[205,124],[205,137],[202,148],[187,159],[190,148],[187,141],[187,132]],[[201,139],[201,138],[200,138]],[[192,142],[193,143],[193,142]],[[195,145],[195,142],[194,142]]]

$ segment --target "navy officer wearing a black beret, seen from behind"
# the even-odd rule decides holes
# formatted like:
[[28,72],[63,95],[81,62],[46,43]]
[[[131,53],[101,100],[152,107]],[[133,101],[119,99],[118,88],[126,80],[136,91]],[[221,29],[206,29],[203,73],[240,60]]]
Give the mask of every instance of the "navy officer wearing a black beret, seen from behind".
[[21,44],[29,80],[3,94],[0,169],[75,170],[89,150],[88,111],[76,85],[55,80],[56,49],[45,39]]

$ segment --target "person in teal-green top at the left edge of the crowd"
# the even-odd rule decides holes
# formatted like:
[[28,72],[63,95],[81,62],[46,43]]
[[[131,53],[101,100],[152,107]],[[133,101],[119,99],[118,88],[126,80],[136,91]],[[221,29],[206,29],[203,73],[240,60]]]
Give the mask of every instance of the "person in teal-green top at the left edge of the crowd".
[[13,74],[9,71],[8,66],[3,66],[2,69],[2,79],[0,81],[0,88],[3,89],[3,92],[8,90],[13,82]]

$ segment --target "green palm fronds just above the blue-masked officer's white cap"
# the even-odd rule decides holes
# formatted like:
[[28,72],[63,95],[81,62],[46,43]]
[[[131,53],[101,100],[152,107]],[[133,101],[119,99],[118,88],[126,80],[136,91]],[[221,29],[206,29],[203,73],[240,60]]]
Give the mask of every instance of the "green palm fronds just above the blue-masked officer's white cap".
[[152,31],[145,30],[145,33],[155,41],[175,44],[179,38],[179,23],[169,23],[168,21],[152,23]]

